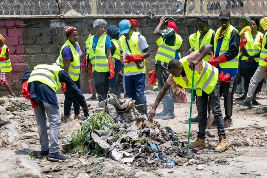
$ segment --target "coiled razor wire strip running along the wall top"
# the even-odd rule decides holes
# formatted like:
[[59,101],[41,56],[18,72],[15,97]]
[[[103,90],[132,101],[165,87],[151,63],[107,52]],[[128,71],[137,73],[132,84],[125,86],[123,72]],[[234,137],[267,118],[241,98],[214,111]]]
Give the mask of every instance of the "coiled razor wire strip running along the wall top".
[[267,0],[188,0],[187,12],[184,12],[184,0],[97,0],[95,10],[92,10],[92,4],[89,0],[3,0],[0,2],[0,16],[58,15],[70,10],[82,16],[93,14],[92,12],[99,15],[216,15],[224,9],[232,15],[267,15]]

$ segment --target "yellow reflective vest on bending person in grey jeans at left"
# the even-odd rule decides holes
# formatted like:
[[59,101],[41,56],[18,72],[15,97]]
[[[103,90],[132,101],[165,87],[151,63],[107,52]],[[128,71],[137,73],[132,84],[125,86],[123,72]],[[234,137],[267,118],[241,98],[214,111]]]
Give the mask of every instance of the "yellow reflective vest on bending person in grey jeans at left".
[[63,69],[57,65],[47,65],[40,64],[34,67],[31,72],[28,83],[38,81],[46,84],[48,87],[52,88],[53,91],[60,89],[61,85],[59,82],[58,74]]

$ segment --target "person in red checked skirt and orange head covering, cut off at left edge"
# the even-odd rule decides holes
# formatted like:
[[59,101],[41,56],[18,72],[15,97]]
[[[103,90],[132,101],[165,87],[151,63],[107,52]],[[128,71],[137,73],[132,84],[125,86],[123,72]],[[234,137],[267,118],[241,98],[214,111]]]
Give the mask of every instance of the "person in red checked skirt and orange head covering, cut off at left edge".
[[6,72],[11,72],[12,67],[9,57],[9,50],[4,42],[5,37],[0,34],[0,83],[6,87],[6,90],[10,93],[11,97],[15,97],[16,95],[6,81]]

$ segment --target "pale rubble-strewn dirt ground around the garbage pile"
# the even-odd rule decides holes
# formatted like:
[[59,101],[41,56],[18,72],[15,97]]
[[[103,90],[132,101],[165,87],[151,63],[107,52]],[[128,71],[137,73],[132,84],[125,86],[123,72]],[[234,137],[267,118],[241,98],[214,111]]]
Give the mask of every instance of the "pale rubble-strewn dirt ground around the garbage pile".
[[[85,94],[86,98],[91,95]],[[148,109],[157,95],[146,95]],[[187,93],[190,101],[190,94]],[[10,99],[4,100],[4,108]],[[22,98],[17,99],[27,105]],[[63,112],[64,95],[58,95],[60,111]],[[11,124],[0,129],[0,178],[1,177],[267,177],[267,100],[258,100],[262,106],[247,108],[234,103],[233,127],[226,129],[226,137],[231,144],[223,153],[214,153],[212,149],[197,151],[197,157],[188,164],[173,168],[137,167],[120,164],[106,158],[85,160],[70,155],[71,162],[50,162],[36,157],[40,151],[39,136],[33,110],[17,110],[1,114],[10,119]],[[91,108],[97,108],[97,101],[88,101]],[[18,106],[19,107],[19,106]],[[221,108],[224,114],[223,99]],[[160,105],[157,112],[163,106]],[[1,109],[0,109],[1,112]],[[181,141],[187,141],[190,103],[175,104],[175,118],[171,120],[155,119],[161,126],[169,126]],[[197,115],[193,105],[193,118]],[[61,125],[62,126],[62,125]],[[192,123],[191,140],[196,139],[198,124]],[[210,148],[217,145],[217,129],[206,130],[206,143]],[[63,136],[64,138],[64,136]],[[60,142],[62,142],[60,140]],[[203,160],[203,162],[197,162]],[[105,165],[100,170],[99,166]],[[202,165],[203,170],[196,167]],[[99,168],[99,171],[95,171]]]

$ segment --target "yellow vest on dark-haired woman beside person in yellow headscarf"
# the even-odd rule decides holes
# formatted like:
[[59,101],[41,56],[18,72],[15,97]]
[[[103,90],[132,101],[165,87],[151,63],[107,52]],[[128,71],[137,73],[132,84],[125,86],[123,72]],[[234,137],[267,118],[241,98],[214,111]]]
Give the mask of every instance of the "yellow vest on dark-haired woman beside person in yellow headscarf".
[[[263,34],[261,32],[257,32],[257,35],[255,37],[255,41],[253,40],[251,31],[245,32],[245,37],[247,39],[247,44],[245,44],[244,48],[249,56],[254,56],[260,53],[261,51],[261,43],[260,43],[260,37],[263,37]],[[247,60],[247,56],[242,56],[242,60]],[[259,57],[255,57],[254,60],[256,62],[259,62]]]

